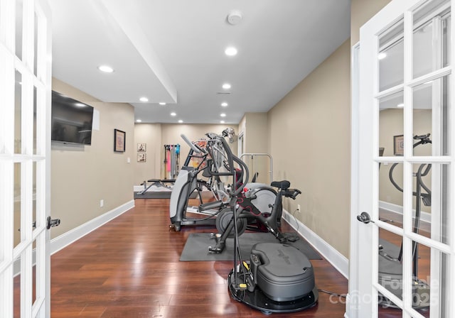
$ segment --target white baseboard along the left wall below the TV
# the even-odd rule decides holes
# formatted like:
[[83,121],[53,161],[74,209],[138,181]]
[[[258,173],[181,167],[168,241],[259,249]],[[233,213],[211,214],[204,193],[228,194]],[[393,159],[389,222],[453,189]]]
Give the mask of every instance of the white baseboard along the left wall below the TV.
[[[79,238],[82,238],[83,236],[89,234],[91,231],[94,231],[103,224],[106,224],[112,219],[115,219],[117,216],[124,214],[124,212],[127,212],[129,209],[132,209],[133,207],[134,200],[131,200],[115,209],[112,209],[109,212],[106,212],[105,214],[95,217],[95,219],[91,219],[90,221],[87,221],[84,224],[77,226],[75,229],[72,229],[60,236],[57,236],[56,238],[53,238],[52,240],[50,240],[50,255],[53,255],[53,253],[57,253],[61,249],[77,241]],[[35,250],[33,250],[32,258],[33,264],[35,264],[36,260]],[[13,268],[14,276],[21,273],[21,258],[18,258],[16,259],[16,261],[14,261]]]

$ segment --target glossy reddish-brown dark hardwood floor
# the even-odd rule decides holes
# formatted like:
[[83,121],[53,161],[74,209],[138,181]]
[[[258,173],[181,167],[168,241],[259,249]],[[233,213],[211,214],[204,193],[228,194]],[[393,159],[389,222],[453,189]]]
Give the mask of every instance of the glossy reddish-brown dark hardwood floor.
[[[192,232],[169,230],[168,199],[136,207],[51,257],[51,313],[58,317],[264,317],[230,297],[232,261],[179,261]],[[282,231],[294,231],[284,222]],[[312,260],[319,289],[346,294],[348,281]],[[345,299],[321,292],[316,307],[272,317],[343,317]]]

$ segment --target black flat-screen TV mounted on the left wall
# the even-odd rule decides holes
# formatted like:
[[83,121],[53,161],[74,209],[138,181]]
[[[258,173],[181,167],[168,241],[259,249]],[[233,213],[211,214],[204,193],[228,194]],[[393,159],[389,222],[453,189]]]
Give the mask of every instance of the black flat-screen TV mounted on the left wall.
[[52,92],[51,140],[92,143],[93,107],[58,92]]

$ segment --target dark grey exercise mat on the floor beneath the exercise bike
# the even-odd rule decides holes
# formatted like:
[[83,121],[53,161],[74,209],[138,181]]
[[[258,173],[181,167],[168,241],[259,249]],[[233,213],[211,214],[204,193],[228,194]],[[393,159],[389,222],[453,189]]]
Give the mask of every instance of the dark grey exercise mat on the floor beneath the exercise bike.
[[[284,234],[292,235],[292,234]],[[244,233],[239,237],[240,253],[242,258],[250,259],[250,251],[256,243],[279,243],[270,233]],[[186,240],[185,247],[180,256],[180,261],[233,261],[234,260],[234,239],[228,238],[226,247],[222,253],[210,253],[208,246],[215,246],[215,239],[210,238],[210,233],[191,233]],[[319,253],[300,238],[298,241],[291,242],[292,246],[299,248],[306,257],[311,260],[320,260]]]

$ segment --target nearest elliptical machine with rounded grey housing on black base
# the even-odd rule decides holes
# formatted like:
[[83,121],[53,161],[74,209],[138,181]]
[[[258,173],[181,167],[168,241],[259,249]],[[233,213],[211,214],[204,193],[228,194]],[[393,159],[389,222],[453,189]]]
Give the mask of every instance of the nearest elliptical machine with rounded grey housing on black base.
[[[228,151],[230,153],[230,151]],[[240,165],[240,174],[247,182],[249,177],[248,168],[242,160],[232,155],[230,163]],[[237,301],[262,311],[264,314],[272,312],[297,312],[314,307],[318,301],[319,293],[314,282],[314,270],[311,262],[304,253],[285,243],[257,243],[253,246],[250,260],[243,261],[238,242],[239,226],[237,216],[242,215],[243,209],[240,204],[245,198],[252,199],[254,194],[245,194],[245,182],[237,182],[238,170],[230,168],[233,176],[233,185],[230,192],[230,204],[232,209],[232,225],[234,236],[234,260],[233,269],[228,275],[230,295]],[[277,182],[279,187],[275,205],[281,209],[281,198],[289,190],[289,181]],[[297,190],[298,191],[298,190]],[[298,194],[298,193],[297,193]],[[294,195],[297,195],[294,194]],[[258,214],[258,216],[261,214]],[[257,217],[257,216],[256,216]],[[267,217],[264,222],[267,224]],[[228,232],[230,233],[230,232]],[[273,233],[273,232],[272,232]],[[278,238],[279,236],[277,236]]]

